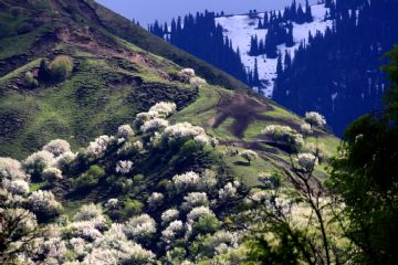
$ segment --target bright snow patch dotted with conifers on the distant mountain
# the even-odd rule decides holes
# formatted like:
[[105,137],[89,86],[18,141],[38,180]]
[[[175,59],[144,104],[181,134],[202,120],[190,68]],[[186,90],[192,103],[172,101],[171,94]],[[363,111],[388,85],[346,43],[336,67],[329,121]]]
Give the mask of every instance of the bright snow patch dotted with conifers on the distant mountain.
[[[293,23],[293,39],[295,45],[292,47],[286,47],[285,44],[277,46],[277,50],[282,55],[287,50],[293,57],[294,51],[298,49],[300,42],[307,42],[308,32],[315,35],[317,31],[324,33],[327,26],[332,28],[332,20],[326,20],[326,14],[329,10],[325,8],[324,4],[312,6],[311,11],[314,17],[313,22],[304,24]],[[281,12],[283,13],[283,11]],[[263,18],[264,13],[258,13],[258,17]],[[268,32],[268,30],[258,29],[259,18],[251,18],[249,14],[226,15],[217,18],[216,23],[224,29],[224,35],[232,40],[233,47],[240,49],[242,63],[248,70],[254,68],[254,60],[255,57],[258,59],[260,80],[263,81],[264,84],[266,84],[266,81],[269,82],[269,85],[264,85],[262,91],[265,96],[272,97],[274,87],[273,80],[276,77],[277,59],[268,59],[266,55],[249,56],[251,36],[256,35],[259,40],[264,40]]]

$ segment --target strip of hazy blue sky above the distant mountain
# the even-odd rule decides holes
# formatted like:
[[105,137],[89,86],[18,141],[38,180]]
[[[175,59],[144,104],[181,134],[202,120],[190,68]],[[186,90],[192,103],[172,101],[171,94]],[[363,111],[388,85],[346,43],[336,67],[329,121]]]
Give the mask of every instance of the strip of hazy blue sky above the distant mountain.
[[[305,1],[305,0],[303,0]],[[226,13],[245,13],[250,9],[273,10],[283,9],[292,0],[97,0],[117,13],[138,20],[146,26],[155,19],[170,21],[189,12],[209,11]],[[314,3],[316,0],[310,0]]]

